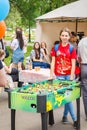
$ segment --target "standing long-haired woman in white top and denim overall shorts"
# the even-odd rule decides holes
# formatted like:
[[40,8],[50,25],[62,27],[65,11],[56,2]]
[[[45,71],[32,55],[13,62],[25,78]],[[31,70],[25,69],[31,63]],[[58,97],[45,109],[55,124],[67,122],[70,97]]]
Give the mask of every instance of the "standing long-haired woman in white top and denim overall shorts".
[[13,50],[12,62],[18,70],[22,70],[22,64],[24,61],[24,40],[21,30],[16,29],[16,37],[11,43],[11,49]]

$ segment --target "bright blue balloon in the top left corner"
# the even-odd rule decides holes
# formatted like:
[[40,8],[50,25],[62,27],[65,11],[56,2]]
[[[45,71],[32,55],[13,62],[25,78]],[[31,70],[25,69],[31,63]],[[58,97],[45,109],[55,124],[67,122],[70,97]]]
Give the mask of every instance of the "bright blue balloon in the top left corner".
[[9,1],[0,0],[0,21],[4,20],[9,13]]

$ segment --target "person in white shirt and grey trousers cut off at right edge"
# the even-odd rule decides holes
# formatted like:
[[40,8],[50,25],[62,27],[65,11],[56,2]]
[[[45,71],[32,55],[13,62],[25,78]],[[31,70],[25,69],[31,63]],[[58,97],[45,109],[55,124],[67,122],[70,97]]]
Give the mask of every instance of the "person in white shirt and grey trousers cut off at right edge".
[[81,69],[81,88],[84,104],[85,117],[87,120],[87,37],[78,43],[78,61]]

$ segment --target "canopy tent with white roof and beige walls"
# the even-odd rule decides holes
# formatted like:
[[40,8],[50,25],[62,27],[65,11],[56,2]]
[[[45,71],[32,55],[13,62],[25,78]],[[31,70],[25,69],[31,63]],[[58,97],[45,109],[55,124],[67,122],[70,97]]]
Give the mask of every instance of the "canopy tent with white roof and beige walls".
[[84,32],[87,35],[86,12],[87,0],[79,0],[37,17],[36,40],[53,44],[58,40],[61,28],[66,26],[71,31]]

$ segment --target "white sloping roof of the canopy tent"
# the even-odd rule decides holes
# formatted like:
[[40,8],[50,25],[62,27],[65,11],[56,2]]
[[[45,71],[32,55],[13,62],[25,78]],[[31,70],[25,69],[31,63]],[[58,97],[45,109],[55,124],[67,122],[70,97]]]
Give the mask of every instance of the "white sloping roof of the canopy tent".
[[87,18],[87,0],[79,0],[53,11],[50,11],[36,20],[56,20],[56,19],[85,19]]

